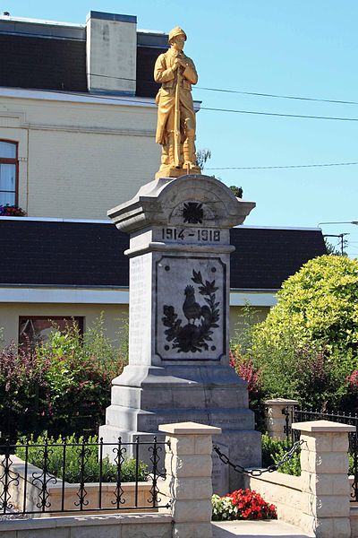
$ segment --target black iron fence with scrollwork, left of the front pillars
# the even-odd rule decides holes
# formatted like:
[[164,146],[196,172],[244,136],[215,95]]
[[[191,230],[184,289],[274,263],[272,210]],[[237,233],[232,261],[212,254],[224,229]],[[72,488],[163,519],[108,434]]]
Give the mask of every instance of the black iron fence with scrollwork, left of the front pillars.
[[168,508],[158,488],[166,444],[154,437],[0,445],[0,516]]

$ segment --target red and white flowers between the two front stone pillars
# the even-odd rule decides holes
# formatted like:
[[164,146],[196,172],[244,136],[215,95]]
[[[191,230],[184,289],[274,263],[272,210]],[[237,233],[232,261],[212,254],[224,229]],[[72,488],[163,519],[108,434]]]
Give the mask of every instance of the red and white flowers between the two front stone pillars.
[[214,521],[277,519],[276,507],[268,504],[260,493],[253,490],[236,490],[225,497],[213,495],[211,503]]

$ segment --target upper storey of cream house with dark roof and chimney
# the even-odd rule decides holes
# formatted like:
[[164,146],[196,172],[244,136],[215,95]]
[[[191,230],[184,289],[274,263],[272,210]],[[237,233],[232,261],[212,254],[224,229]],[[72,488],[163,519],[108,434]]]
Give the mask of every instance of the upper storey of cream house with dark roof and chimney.
[[106,219],[158,169],[153,65],[165,33],[90,12],[74,25],[0,17],[0,204]]

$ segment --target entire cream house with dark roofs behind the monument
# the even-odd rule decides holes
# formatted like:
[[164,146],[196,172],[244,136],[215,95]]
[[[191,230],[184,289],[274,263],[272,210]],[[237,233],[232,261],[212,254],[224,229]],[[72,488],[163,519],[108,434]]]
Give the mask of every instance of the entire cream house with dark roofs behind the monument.
[[[4,341],[81,330],[104,312],[118,339],[128,314],[128,238],[107,210],[154,178],[153,67],[165,32],[132,15],[90,12],[83,24],[0,16],[0,327]],[[200,103],[194,103],[200,108]],[[282,282],[324,254],[320,230],[232,230],[232,334],[245,305],[263,318]]]

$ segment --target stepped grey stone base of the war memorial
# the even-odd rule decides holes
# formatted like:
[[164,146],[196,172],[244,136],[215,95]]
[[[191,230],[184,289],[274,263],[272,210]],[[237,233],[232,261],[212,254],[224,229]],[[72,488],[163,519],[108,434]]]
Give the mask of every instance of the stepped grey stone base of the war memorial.
[[[260,466],[260,432],[254,430],[254,414],[248,409],[246,384],[230,367],[127,366],[112,386],[111,405],[106,424],[99,428],[105,443],[151,441],[161,424],[194,421],[222,429],[214,438],[226,447],[227,456],[243,466]],[[149,461],[141,447],[140,457]],[[134,456],[136,447],[127,447],[126,456]],[[107,456],[113,458],[112,447]],[[214,462],[213,487],[224,495],[243,486],[243,477],[230,469],[229,478],[222,462]],[[222,477],[220,478],[220,476]]]

